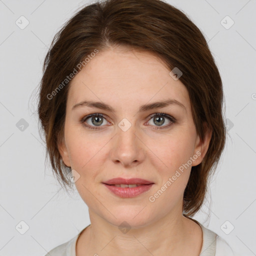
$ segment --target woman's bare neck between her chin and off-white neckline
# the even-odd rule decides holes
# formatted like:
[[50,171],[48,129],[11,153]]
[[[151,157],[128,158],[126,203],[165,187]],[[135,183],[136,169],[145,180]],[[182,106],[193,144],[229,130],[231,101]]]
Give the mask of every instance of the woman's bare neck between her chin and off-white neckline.
[[89,213],[91,224],[86,228],[79,246],[77,242],[77,256],[193,255],[191,244],[196,242],[194,255],[200,253],[201,242],[196,241],[198,236],[194,232],[197,226],[198,234],[200,227],[182,214],[165,215],[158,221],[120,230],[98,215]]

